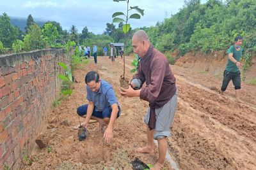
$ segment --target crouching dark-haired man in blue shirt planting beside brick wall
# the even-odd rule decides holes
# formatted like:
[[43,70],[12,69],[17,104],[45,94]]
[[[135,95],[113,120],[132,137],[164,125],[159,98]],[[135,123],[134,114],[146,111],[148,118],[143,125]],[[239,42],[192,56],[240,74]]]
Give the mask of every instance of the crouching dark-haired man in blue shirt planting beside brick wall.
[[99,74],[90,71],[85,76],[86,91],[89,103],[79,106],[77,114],[85,117],[83,125],[88,128],[90,118],[99,122],[99,131],[108,125],[103,138],[107,143],[113,139],[115,120],[120,116],[121,110],[112,86],[99,78]]

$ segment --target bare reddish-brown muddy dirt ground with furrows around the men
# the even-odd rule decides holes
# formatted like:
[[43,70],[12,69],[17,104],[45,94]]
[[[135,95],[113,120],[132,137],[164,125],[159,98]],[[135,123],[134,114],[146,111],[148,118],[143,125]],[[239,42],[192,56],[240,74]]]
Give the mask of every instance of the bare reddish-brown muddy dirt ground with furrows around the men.
[[[95,65],[90,59],[89,64],[75,71],[78,83],[74,83],[74,94],[48,115],[44,134],[51,138],[51,152],[36,147],[30,157],[32,165],[24,169],[132,169],[131,161],[136,157],[147,164],[156,162],[157,148],[153,155],[135,152],[146,142],[143,115],[148,103],[120,96],[121,59],[114,66],[108,58],[98,60]],[[132,57],[127,57],[129,78],[131,61]],[[256,87],[243,83],[241,99],[246,104],[237,104],[232,83],[225,96],[218,94],[221,76],[198,73],[193,67],[171,69],[177,78],[179,101],[168,151],[179,169],[256,169]],[[90,124],[89,136],[84,141],[79,141],[77,130],[72,129],[79,124],[77,106],[87,103],[84,76],[92,70],[99,71],[100,77],[113,85],[122,109],[111,144],[104,143],[103,132],[93,130],[97,127],[95,123]],[[168,161],[164,169],[172,169]]]

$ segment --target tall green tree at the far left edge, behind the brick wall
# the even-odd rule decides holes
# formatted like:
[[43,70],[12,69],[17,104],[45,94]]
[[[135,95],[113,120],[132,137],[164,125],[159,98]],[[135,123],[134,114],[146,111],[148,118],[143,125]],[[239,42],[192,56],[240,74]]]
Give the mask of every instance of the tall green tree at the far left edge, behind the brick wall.
[[15,29],[10,22],[10,17],[6,13],[0,16],[0,41],[4,47],[10,48],[13,41],[17,39],[18,31]]

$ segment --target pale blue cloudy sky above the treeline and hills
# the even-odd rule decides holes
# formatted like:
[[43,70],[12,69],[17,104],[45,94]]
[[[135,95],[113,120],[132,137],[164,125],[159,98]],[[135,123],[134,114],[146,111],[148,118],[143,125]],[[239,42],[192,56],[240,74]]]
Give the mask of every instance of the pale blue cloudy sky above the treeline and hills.
[[[202,3],[206,1],[201,0]],[[138,6],[145,11],[140,20],[131,19],[129,23],[132,28],[154,26],[164,17],[177,13],[183,5],[183,0],[130,0],[129,6]],[[125,1],[116,3],[113,0],[0,0],[0,15],[6,12],[10,17],[27,18],[31,14],[34,19],[60,22],[67,30],[75,25],[81,32],[86,26],[95,34],[102,34],[106,23],[112,22],[112,14],[125,11],[125,8]]]

